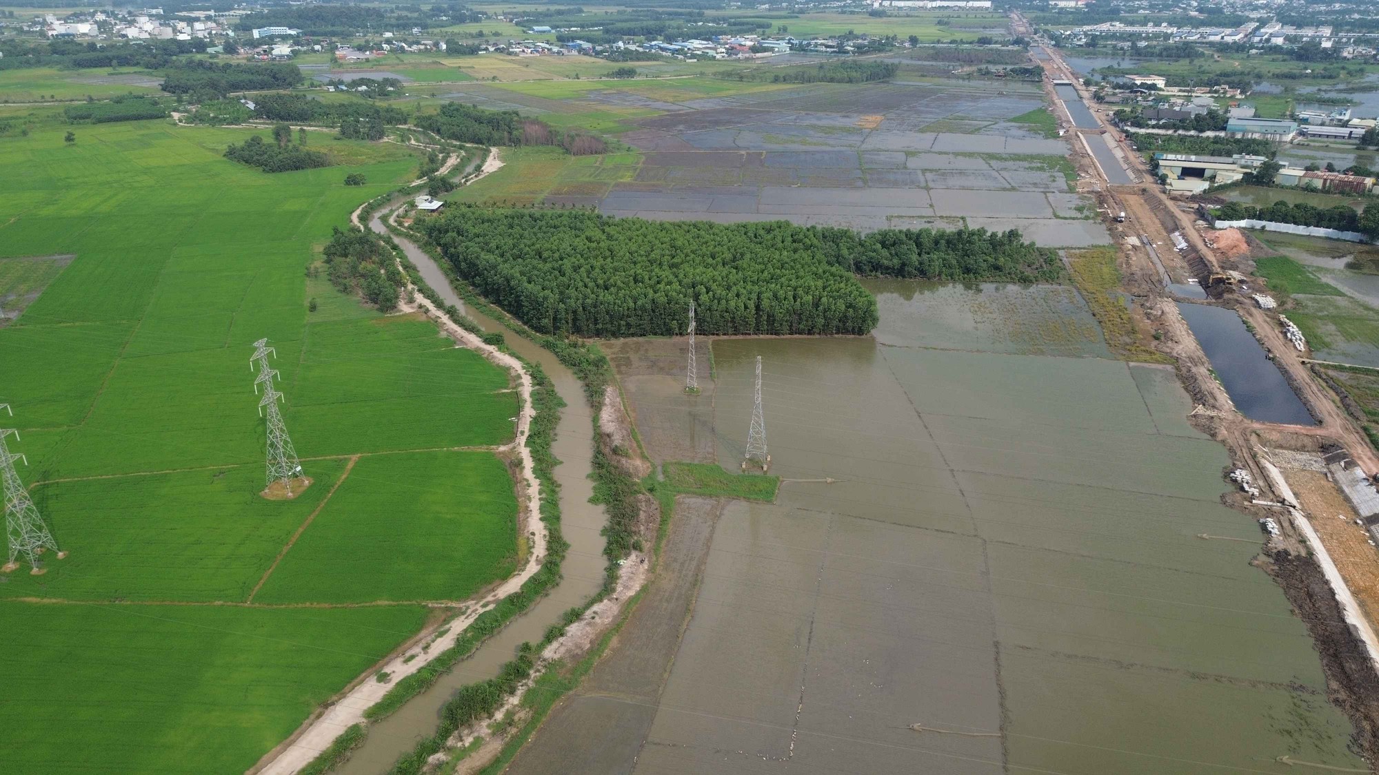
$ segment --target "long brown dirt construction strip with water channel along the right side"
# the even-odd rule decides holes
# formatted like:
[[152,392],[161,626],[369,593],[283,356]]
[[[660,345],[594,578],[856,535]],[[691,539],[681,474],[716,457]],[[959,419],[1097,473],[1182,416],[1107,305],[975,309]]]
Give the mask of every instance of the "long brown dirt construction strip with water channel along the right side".
[[[1049,72],[1054,105],[1077,92],[1092,105],[1058,50],[1038,57]],[[1055,85],[1055,83],[1058,85]],[[1058,91],[1055,91],[1055,88]],[[1295,612],[1307,622],[1328,676],[1331,701],[1356,724],[1356,743],[1369,761],[1379,753],[1379,549],[1373,523],[1379,513],[1373,477],[1379,456],[1362,430],[1364,415],[1335,381],[1310,359],[1298,327],[1252,277],[1259,243],[1238,229],[1214,230],[1193,201],[1171,197],[1110,125],[1088,110],[1058,113],[1080,172],[1078,190],[1096,197],[1118,247],[1124,290],[1149,342],[1176,359],[1178,376],[1193,399],[1191,422],[1226,444],[1230,479],[1238,492],[1225,501],[1256,517],[1267,534],[1255,563],[1282,585]],[[1106,154],[1116,165],[1107,170]],[[1128,178],[1129,183],[1117,183]],[[1215,319],[1216,312],[1223,317]],[[1222,327],[1240,328],[1231,345]],[[1254,339],[1252,342],[1249,339]],[[1254,352],[1258,349],[1258,352]],[[1251,360],[1255,379],[1233,385],[1218,356]],[[1300,419],[1280,422],[1259,410],[1260,382],[1282,378],[1282,400],[1296,399]],[[1276,390],[1278,392],[1278,390]],[[1296,415],[1288,415],[1296,418]],[[1212,541],[1211,535],[1201,535]]]

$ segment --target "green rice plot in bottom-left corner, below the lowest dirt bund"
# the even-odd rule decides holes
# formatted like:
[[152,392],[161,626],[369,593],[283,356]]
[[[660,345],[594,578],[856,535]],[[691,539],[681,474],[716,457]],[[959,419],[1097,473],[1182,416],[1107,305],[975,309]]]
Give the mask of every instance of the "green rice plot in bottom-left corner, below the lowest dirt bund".
[[0,603],[6,771],[244,772],[425,618]]

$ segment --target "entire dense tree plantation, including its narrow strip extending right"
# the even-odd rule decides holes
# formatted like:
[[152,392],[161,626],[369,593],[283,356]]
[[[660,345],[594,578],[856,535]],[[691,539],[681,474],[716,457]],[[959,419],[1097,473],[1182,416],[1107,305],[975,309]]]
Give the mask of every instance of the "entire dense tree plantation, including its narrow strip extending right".
[[1052,280],[1018,232],[661,222],[585,211],[459,205],[419,228],[461,277],[545,334],[673,335],[690,301],[705,334],[865,334],[876,299],[856,274]]

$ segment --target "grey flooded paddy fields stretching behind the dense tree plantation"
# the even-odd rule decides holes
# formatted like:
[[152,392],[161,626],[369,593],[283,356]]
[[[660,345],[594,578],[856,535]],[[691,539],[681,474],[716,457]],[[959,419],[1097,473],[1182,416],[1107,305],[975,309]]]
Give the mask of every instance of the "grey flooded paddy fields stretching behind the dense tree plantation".
[[811,84],[640,103],[663,112],[621,137],[645,152],[634,179],[553,201],[650,219],[863,232],[965,223],[1020,229],[1051,247],[1106,244],[1091,201],[1069,183],[1067,141],[1009,120],[1041,105],[1034,84],[987,81]]

